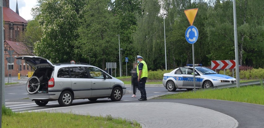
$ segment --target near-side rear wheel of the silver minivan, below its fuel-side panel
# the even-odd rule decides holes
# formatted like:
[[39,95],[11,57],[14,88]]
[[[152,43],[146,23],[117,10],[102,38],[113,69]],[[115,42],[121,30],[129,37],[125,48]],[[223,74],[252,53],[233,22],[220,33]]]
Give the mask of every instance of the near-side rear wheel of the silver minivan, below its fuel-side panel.
[[63,91],[58,99],[60,106],[70,106],[73,103],[73,94],[69,91]]

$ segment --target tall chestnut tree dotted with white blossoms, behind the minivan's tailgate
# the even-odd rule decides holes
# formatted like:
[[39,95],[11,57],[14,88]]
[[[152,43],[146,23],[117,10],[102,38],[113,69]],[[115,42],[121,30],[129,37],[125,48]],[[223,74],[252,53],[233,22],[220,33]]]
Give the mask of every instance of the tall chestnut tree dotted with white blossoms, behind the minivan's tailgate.
[[35,54],[53,63],[70,62],[78,38],[79,16],[83,1],[42,1],[38,22],[43,31],[40,42],[35,43]]

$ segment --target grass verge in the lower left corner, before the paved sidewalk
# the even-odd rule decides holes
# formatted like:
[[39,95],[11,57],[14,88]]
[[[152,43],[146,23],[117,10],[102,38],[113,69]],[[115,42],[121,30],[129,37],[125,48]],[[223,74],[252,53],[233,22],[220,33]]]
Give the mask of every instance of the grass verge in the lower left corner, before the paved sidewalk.
[[73,113],[47,113],[47,112],[26,112],[14,113],[3,106],[2,127],[10,128],[140,128],[140,124],[134,121],[106,117],[93,117],[76,115]]

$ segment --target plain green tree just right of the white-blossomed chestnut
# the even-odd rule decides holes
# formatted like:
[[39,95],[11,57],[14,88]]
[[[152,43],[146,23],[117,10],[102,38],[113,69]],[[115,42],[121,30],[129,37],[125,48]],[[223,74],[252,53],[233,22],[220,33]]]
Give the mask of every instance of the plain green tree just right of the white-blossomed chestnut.
[[86,5],[82,11],[84,16],[80,20],[80,37],[76,52],[80,53],[82,58],[89,58],[91,55],[91,64],[104,69],[106,62],[117,60],[117,23],[108,10],[108,0],[90,0]]

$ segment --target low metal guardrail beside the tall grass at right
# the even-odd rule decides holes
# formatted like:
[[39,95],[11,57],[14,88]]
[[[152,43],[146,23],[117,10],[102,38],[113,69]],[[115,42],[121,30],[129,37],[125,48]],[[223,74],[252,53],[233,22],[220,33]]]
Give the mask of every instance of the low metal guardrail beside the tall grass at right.
[[[261,80],[242,82],[242,83],[240,83],[240,86],[261,85],[261,84],[263,84],[263,82],[264,82],[264,79],[262,80],[262,82],[261,82]],[[210,87],[207,89],[220,89],[220,88],[231,88],[231,87],[236,87],[236,84],[213,86],[213,87]]]

